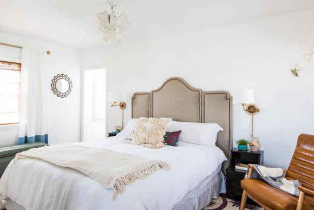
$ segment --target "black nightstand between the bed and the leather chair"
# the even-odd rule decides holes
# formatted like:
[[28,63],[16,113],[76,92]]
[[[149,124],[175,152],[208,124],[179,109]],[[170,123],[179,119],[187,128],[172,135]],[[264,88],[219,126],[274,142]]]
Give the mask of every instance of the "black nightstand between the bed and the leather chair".
[[[234,169],[234,167],[241,164],[258,164],[263,165],[264,151],[243,151],[238,148],[233,148],[230,153],[230,165],[226,169],[226,196],[227,198],[241,201],[242,188],[241,180],[244,179],[246,171]],[[248,199],[247,203],[255,204],[252,200]],[[256,204],[255,204],[256,205]]]

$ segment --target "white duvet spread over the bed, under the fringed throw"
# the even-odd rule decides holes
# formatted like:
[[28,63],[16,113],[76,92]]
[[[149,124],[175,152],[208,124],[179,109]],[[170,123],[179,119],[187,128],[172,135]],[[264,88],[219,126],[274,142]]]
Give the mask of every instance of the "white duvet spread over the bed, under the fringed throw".
[[172,209],[226,160],[218,147],[179,142],[177,147],[149,149],[123,137],[77,143],[168,162],[158,171],[126,186],[112,201],[111,190],[79,172],[35,159],[11,161],[0,179],[0,200],[10,198],[25,209]]

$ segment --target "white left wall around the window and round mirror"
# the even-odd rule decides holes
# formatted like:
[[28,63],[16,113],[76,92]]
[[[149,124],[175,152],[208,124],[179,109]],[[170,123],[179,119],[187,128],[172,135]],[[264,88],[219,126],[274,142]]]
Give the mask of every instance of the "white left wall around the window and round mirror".
[[[0,42],[49,50],[46,58],[46,96],[49,144],[79,142],[81,138],[81,60],[82,53],[38,40],[0,33]],[[0,45],[0,59],[20,61],[21,50]],[[67,74],[73,88],[67,98],[58,98],[51,91],[51,79],[57,74]],[[17,144],[18,126],[0,127],[0,147]]]

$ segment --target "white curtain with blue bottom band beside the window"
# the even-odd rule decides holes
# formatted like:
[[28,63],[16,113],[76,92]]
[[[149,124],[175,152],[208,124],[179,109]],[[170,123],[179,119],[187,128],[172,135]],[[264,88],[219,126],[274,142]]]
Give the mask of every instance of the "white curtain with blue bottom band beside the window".
[[20,131],[18,143],[48,144],[45,99],[45,53],[23,48],[20,87]]

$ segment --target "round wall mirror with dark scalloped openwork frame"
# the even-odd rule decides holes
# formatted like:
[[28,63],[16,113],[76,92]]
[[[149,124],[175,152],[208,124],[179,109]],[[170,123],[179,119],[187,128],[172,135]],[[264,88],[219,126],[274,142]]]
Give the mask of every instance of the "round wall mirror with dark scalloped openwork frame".
[[65,74],[59,74],[51,80],[51,90],[58,97],[64,98],[70,95],[72,90],[72,81]]

